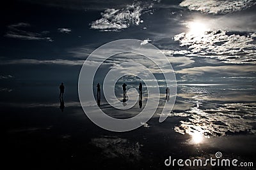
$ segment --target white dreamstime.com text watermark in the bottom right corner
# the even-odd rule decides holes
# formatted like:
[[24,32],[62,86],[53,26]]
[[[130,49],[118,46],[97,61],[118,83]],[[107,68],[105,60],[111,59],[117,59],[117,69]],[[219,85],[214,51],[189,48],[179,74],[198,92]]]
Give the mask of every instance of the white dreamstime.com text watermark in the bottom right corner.
[[237,159],[221,159],[222,153],[216,152],[215,158],[210,159],[172,159],[170,156],[164,160],[165,166],[239,166],[239,167],[253,167],[253,162],[239,162]]

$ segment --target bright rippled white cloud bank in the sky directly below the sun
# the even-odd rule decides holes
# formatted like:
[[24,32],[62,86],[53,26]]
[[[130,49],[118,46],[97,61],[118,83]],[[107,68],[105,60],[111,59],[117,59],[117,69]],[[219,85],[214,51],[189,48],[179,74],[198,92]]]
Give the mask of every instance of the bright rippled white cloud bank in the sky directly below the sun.
[[180,46],[187,48],[183,51],[184,55],[211,57],[233,64],[256,63],[255,38],[255,33],[221,30],[207,31],[200,35],[182,32],[174,36]]

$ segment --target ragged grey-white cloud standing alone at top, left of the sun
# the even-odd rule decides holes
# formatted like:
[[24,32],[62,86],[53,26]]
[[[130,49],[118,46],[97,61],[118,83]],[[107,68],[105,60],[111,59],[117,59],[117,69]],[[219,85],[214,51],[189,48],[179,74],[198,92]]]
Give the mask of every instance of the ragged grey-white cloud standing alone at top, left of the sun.
[[141,7],[139,3],[127,5],[124,8],[115,10],[109,8],[101,13],[102,18],[92,22],[91,28],[99,31],[120,31],[131,25],[139,25],[141,12],[148,7]]

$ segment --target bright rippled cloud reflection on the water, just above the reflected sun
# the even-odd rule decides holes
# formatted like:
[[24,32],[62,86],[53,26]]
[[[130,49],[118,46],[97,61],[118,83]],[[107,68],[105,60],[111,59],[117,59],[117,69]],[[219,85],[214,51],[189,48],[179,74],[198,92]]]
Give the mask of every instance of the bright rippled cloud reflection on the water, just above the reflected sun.
[[253,127],[255,103],[215,104],[214,108],[206,109],[203,108],[207,106],[201,105],[203,103],[197,101],[196,106],[191,107],[189,111],[173,113],[177,117],[186,117],[186,120],[180,120],[174,130],[191,135],[200,132],[205,137],[256,133]]

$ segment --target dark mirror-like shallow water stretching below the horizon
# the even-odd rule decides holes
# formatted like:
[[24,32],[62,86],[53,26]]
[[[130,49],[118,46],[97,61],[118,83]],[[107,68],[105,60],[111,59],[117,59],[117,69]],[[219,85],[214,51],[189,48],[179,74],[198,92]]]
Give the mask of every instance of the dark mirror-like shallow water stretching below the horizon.
[[[122,133],[93,124],[81,108],[76,85],[66,87],[63,111],[58,87],[24,85],[0,92],[6,158],[27,169],[170,169],[164,166],[169,156],[207,159],[221,152],[225,158],[255,164],[254,85],[180,84],[173,111],[163,123],[158,122],[159,109],[147,124]],[[146,102],[145,95],[143,106]],[[130,112],[120,112],[104,99],[100,107],[119,118],[143,109],[136,104]]]

